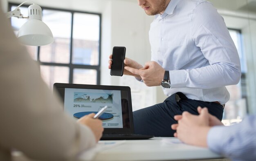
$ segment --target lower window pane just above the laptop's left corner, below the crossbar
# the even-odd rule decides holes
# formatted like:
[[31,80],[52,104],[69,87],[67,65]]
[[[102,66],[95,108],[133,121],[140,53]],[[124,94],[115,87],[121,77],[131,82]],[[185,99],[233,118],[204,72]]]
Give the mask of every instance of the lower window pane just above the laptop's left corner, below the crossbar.
[[69,83],[69,67],[41,65],[40,69],[41,75],[49,88],[52,88],[54,83]]

